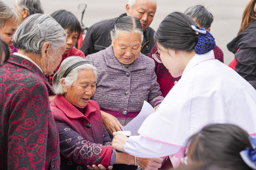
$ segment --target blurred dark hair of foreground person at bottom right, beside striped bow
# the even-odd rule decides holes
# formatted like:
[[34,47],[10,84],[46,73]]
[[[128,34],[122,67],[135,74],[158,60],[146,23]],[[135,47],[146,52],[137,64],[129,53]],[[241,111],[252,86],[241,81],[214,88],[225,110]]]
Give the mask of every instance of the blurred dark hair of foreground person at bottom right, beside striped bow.
[[217,162],[223,168],[251,170],[239,153],[246,147],[252,147],[249,134],[236,125],[207,125],[188,142],[188,156],[192,162]]

